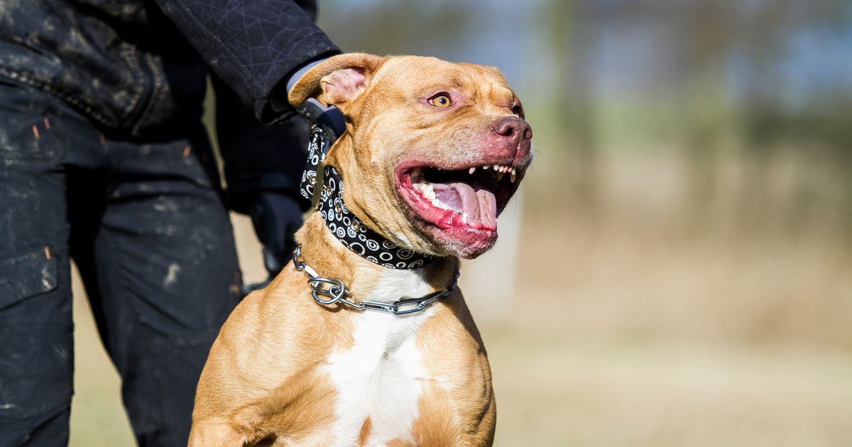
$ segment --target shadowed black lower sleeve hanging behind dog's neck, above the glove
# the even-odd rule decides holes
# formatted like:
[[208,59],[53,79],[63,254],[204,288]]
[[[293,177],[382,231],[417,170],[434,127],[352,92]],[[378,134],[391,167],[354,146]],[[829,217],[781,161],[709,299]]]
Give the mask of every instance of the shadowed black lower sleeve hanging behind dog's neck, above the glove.
[[308,209],[310,203],[299,193],[308,159],[308,121],[296,115],[275,125],[261,123],[221,79],[213,77],[213,88],[228,208],[247,213],[259,192],[274,191]]

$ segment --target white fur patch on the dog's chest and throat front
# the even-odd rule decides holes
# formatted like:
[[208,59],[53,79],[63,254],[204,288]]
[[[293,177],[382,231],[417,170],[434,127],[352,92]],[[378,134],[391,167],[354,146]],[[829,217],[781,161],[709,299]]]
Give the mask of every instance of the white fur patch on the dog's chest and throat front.
[[[389,271],[377,284],[372,300],[394,301],[429,293],[418,271]],[[434,312],[394,316],[360,312],[356,316],[354,345],[332,352],[325,372],[337,390],[332,423],[334,445],[354,445],[367,418],[368,445],[384,445],[400,438],[412,441],[412,423],[426,373],[417,351],[417,330]]]

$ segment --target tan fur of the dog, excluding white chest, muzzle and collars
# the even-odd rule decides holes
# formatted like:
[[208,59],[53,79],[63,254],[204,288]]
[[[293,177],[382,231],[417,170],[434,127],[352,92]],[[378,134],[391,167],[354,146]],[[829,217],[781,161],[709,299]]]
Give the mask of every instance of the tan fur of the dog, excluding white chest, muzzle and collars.
[[[364,82],[344,89],[359,74]],[[433,117],[406,104],[408,93],[429,95],[435,89],[461,92],[471,106],[461,115]],[[347,133],[326,160],[345,180],[348,208],[397,244],[446,256],[429,265],[425,278],[434,291],[452,284],[458,258],[452,247],[412,227],[394,189],[394,167],[402,157],[452,163],[465,156],[463,145],[475,144],[466,135],[511,113],[517,101],[503,76],[489,67],[433,58],[343,54],[308,72],[290,99],[299,104],[309,97],[337,105],[348,119]],[[386,274],[385,267],[340,244],[319,213],[296,239],[305,263],[321,276],[342,279],[355,301],[365,299]],[[337,417],[337,391],[322,368],[332,352],[354,345],[359,311],[316,304],[306,279],[289,264],[228,318],[199,381],[191,446],[334,442],[329,427]],[[426,376],[410,427],[413,445],[490,445],[496,421],[491,370],[461,292],[436,301],[430,312],[416,338]],[[375,421],[368,417],[353,434],[359,445],[371,445],[374,432]],[[387,445],[412,444],[398,438]]]

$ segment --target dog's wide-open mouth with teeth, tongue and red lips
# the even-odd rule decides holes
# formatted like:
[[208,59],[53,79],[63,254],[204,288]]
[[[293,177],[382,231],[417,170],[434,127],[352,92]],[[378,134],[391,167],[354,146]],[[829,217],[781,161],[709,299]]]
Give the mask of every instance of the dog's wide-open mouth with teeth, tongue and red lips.
[[402,198],[423,220],[444,230],[490,235],[523,170],[500,163],[462,169],[409,165],[400,167],[398,181]]

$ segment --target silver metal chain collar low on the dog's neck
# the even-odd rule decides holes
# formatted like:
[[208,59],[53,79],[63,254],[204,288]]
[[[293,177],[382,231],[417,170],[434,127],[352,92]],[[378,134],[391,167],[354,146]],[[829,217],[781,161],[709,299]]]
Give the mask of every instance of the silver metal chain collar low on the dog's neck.
[[[440,298],[450,295],[452,290],[456,289],[458,277],[461,272],[456,273],[456,277],[452,280],[452,285],[443,292],[435,292],[432,295],[424,296],[423,298],[412,298],[408,300],[400,300],[394,302],[384,301],[361,301],[356,303],[349,301],[345,297],[352,297],[349,290],[346,289],[346,284],[338,278],[323,278],[310,266],[302,261],[302,246],[299,245],[296,251],[293,252],[293,267],[298,271],[305,272],[308,276],[308,286],[311,288],[311,295],[314,296],[314,301],[323,306],[331,306],[334,303],[341,302],[348,307],[360,311],[373,311],[383,313],[393,313],[394,315],[406,315],[409,313],[420,312],[429,304]],[[325,286],[328,286],[327,288]],[[319,295],[331,296],[328,300],[323,300]]]

